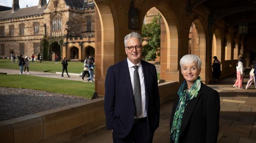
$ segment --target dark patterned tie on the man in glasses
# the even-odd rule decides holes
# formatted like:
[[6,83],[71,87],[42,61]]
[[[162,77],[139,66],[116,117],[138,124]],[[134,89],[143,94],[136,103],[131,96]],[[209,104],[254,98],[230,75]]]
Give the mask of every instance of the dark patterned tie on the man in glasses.
[[135,101],[135,117],[138,118],[142,112],[141,109],[141,92],[140,92],[140,76],[137,71],[138,65],[133,66],[134,71],[134,101]]

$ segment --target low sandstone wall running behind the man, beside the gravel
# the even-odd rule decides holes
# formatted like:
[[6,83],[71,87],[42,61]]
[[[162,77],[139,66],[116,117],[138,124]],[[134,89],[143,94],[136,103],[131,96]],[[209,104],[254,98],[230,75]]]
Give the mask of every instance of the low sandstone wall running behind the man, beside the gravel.
[[[160,103],[174,99],[177,90],[178,82],[159,84]],[[103,126],[104,98],[100,98],[2,121],[0,142],[64,142]]]

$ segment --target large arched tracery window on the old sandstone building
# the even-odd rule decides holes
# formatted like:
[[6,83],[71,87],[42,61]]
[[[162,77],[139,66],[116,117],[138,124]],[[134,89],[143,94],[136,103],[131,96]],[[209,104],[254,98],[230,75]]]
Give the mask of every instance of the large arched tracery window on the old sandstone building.
[[56,14],[52,17],[51,27],[52,36],[62,34],[62,19],[59,15]]

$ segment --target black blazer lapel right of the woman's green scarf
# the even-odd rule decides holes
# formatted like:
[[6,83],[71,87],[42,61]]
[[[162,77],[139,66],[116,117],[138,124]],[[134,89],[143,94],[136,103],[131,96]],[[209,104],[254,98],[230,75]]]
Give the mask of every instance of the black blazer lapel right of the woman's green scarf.
[[200,90],[198,92],[198,96],[196,98],[193,98],[190,101],[188,101],[187,106],[185,107],[185,110],[183,113],[179,137],[181,136],[182,132],[184,131],[185,127],[187,126],[190,116],[191,116],[191,114],[194,110],[194,107],[196,106],[196,103],[197,103],[198,99],[200,98],[201,94],[202,94],[202,91]]

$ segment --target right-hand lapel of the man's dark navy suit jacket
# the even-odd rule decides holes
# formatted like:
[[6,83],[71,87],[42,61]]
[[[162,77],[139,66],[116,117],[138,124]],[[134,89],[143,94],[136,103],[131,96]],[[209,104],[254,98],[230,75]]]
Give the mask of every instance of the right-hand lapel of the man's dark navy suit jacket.
[[148,110],[148,87],[149,87],[149,69],[148,66],[144,63],[145,61],[140,60],[141,65],[142,65],[142,72],[144,76],[144,85],[145,85],[145,96],[146,96],[146,109]]

